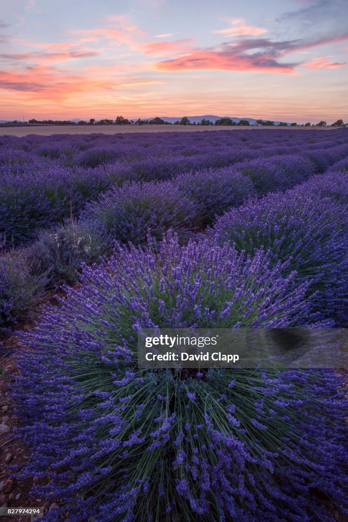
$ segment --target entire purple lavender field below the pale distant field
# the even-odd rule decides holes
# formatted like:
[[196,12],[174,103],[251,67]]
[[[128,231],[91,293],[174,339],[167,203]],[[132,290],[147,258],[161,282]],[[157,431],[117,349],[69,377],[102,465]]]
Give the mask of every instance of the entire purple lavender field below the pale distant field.
[[140,328],[345,328],[347,261],[347,129],[0,136],[4,483],[44,522],[344,522],[342,373],[135,354]]

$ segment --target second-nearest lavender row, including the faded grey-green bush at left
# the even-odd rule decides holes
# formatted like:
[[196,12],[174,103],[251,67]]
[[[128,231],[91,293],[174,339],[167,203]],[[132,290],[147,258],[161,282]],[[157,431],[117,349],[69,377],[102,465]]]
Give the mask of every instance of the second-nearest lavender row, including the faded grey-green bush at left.
[[[343,147],[331,149],[327,161],[342,156]],[[149,230],[160,239],[172,228],[185,242],[248,196],[284,191],[315,171],[311,160],[284,154],[179,174],[170,181],[126,181],[113,187],[87,204],[79,220],[43,230],[29,247],[0,257],[0,327],[24,318],[45,292],[76,280],[81,263],[97,262],[110,252],[113,240],[143,244]],[[17,228],[26,226],[21,218],[13,222]]]

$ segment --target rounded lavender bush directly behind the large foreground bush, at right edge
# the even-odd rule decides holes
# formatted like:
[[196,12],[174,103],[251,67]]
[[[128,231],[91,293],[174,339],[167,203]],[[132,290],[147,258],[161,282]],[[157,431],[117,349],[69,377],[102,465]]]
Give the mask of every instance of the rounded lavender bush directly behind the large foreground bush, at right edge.
[[300,186],[284,194],[250,199],[226,212],[210,235],[249,254],[260,247],[270,249],[274,263],[288,260],[288,270],[311,279],[319,290],[318,309],[345,325],[347,228],[346,207],[330,198],[310,195]]

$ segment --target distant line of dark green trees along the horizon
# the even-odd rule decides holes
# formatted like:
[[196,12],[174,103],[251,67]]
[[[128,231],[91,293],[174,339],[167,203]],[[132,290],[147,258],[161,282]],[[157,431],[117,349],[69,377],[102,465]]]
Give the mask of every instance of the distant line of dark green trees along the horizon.
[[[13,122],[9,123],[20,123],[17,122],[17,120],[14,120]],[[199,123],[193,122],[191,123],[189,118],[187,116],[183,116],[181,120],[177,120],[173,124],[170,122],[166,122],[163,120],[163,118],[160,118],[159,116],[156,116],[155,118],[148,119],[148,120],[142,120],[141,118],[138,118],[137,120],[128,120],[127,118],[124,118],[123,116],[117,116],[115,120],[109,120],[108,118],[104,118],[102,120],[97,121],[95,118],[90,118],[90,120],[87,122],[85,120],[80,120],[79,122],[75,123],[70,120],[36,120],[35,118],[32,118],[32,120],[29,120],[28,123],[32,124],[41,124],[41,125],[204,125],[204,126],[253,126],[253,124],[250,124],[248,120],[239,120],[239,122],[235,122],[232,120],[232,118],[224,117],[219,118],[219,120],[216,120],[215,123],[211,122],[210,120],[207,120],[206,118],[203,118]],[[337,120],[331,125],[328,125],[327,122],[321,120],[319,123],[312,124],[310,122],[307,123],[301,123],[298,124],[296,122],[291,123],[290,125],[285,122],[279,122],[275,124],[271,120],[256,120],[255,123],[258,127],[348,127],[348,123],[343,123],[343,120]]]

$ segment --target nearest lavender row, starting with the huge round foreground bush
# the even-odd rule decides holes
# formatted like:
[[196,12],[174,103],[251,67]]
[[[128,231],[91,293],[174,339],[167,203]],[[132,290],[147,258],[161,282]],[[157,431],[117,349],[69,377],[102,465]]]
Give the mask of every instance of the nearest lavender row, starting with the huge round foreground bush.
[[[88,216],[107,223],[115,194]],[[43,520],[333,522],[332,505],[348,515],[347,401],[333,372],[134,362],[138,327],[343,324],[347,254],[345,160],[251,198],[187,244],[169,231],[85,265],[82,287],[21,335],[14,397],[35,448],[21,476],[47,478],[33,494],[62,506]]]

